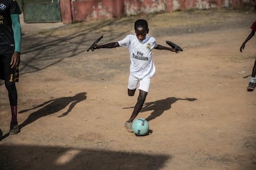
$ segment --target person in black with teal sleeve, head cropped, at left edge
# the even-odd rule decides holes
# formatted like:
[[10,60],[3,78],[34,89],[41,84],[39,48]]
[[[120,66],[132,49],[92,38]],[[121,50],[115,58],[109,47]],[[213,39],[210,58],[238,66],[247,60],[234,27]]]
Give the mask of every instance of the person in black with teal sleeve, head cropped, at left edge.
[[9,134],[17,134],[20,129],[17,121],[17,89],[19,81],[21,28],[20,8],[15,0],[0,1],[0,79],[9,94],[11,125]]

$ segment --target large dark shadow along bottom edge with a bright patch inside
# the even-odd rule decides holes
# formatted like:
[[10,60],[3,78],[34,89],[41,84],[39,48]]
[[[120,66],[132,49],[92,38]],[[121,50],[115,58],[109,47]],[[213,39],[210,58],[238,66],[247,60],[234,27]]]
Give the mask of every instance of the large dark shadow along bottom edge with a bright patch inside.
[[2,169],[161,169],[171,159],[169,155],[26,145],[0,145],[0,153]]

